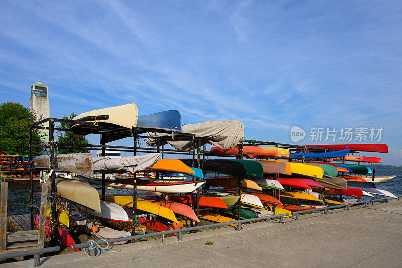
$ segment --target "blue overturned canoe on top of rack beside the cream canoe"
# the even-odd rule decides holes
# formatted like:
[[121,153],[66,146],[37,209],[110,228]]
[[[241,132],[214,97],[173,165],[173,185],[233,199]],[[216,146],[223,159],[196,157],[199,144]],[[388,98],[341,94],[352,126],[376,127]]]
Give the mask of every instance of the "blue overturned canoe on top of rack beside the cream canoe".
[[181,115],[177,110],[140,115],[138,116],[137,127],[181,130]]

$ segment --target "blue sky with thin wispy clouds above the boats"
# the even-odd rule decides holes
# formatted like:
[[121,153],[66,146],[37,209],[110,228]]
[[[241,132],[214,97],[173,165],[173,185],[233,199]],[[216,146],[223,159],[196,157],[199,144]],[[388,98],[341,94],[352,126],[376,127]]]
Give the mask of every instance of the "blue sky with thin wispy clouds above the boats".
[[240,120],[247,139],[283,143],[294,125],[382,127],[390,153],[376,156],[402,164],[399,1],[0,8],[0,102],[29,106],[48,69],[52,117],[136,103],[140,114],[177,109],[185,124]]

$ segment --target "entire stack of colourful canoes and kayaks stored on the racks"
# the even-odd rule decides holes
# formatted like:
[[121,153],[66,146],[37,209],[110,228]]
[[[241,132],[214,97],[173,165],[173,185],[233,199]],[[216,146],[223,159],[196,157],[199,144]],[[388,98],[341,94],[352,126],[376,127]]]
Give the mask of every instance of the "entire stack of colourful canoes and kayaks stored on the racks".
[[[96,122],[93,125],[103,134],[115,125],[130,131],[134,127],[163,130],[143,131],[146,144],[157,148],[155,153],[121,158],[59,154],[53,164],[49,156],[34,158],[34,168],[48,173],[44,176],[49,177],[48,191],[55,193],[46,224],[52,225],[51,230],[57,226],[63,244],[74,244],[68,229],[71,226],[99,238],[118,238],[274,214],[290,217],[295,211],[350,202],[344,196],[395,197],[376,189],[375,183],[384,178],[376,180],[372,176],[373,181],[368,182],[371,170],[367,166],[345,163],[378,162],[374,158],[349,157],[366,147],[317,145],[308,147],[309,151],[297,146],[254,146],[255,142],[243,146],[244,128],[239,121],[181,126],[180,114],[175,110],[132,116],[136,109],[133,105],[106,108],[80,114],[74,120]],[[87,128],[71,125],[76,136],[82,136]],[[177,130],[191,135],[177,139],[170,134]],[[203,153],[215,158],[196,159],[194,153],[188,159],[162,159],[160,139],[162,145],[168,143],[181,153],[194,152],[195,148],[202,153],[204,144],[213,144],[215,147]],[[384,152],[383,146],[373,145],[371,150]],[[113,176],[105,178],[102,174]]]

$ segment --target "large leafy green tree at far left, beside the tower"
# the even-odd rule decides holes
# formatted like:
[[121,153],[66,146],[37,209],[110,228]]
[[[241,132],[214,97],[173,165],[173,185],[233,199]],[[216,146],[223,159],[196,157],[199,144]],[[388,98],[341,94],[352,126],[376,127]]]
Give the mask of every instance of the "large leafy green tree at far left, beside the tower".
[[[29,125],[36,122],[34,113],[19,103],[0,104],[0,152],[7,154],[29,154]],[[39,131],[33,131],[32,144],[40,145]],[[41,148],[33,148],[34,155]]]

